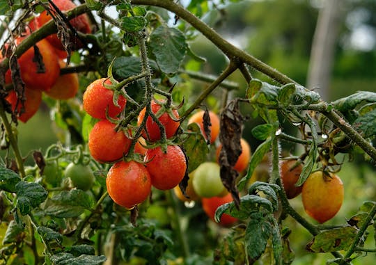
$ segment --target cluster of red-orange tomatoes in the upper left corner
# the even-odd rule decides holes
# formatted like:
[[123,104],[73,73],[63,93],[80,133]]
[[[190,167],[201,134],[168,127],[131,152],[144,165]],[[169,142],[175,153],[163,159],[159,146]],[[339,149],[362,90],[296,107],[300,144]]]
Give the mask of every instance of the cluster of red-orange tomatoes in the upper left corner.
[[[54,0],[54,5],[62,11],[76,7],[75,3],[72,3],[70,0]],[[52,6],[50,8],[54,10]],[[15,38],[14,45],[17,47],[30,33],[40,29],[40,27],[49,22],[52,19],[49,12],[44,10],[38,17],[33,18],[26,26],[23,35]],[[76,31],[91,33],[91,26],[86,14],[71,19],[70,24]],[[81,43],[77,38],[71,38],[70,42],[77,44],[72,45],[72,49],[79,49],[81,47]],[[4,45],[6,49],[12,46],[9,44]],[[34,50],[36,48],[40,56],[42,56],[42,62],[39,63],[36,62],[35,58],[35,54],[38,54]],[[5,55],[10,53],[10,51],[6,51]],[[0,60],[2,61],[4,55],[0,56]],[[13,111],[17,109],[17,113],[19,113],[17,118],[19,120],[27,122],[33,117],[42,102],[42,93],[54,99],[70,99],[75,97],[79,89],[77,73],[60,75],[60,69],[65,65],[63,60],[66,57],[67,53],[61,44],[61,40],[59,40],[56,34],[52,34],[37,42],[35,47],[31,47],[22,56],[17,58],[19,74],[24,82],[24,106],[19,101],[22,95],[17,95],[15,90],[11,90],[6,99],[12,106]],[[14,81],[10,70],[6,72],[5,81],[6,84],[13,83]]]

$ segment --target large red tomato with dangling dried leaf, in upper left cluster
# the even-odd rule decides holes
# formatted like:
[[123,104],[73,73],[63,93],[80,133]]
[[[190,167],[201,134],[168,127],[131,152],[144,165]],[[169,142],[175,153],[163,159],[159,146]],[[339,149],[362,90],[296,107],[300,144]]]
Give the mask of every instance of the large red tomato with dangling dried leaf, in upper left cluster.
[[[16,43],[21,42],[23,38],[18,38]],[[34,60],[34,47],[31,47],[18,58],[19,71],[21,79],[25,86],[33,90],[49,90],[60,74],[60,66],[58,65],[58,57],[47,40],[40,40],[36,46],[43,58],[45,72],[38,72],[38,65]],[[12,83],[10,70],[6,72],[6,83]]]

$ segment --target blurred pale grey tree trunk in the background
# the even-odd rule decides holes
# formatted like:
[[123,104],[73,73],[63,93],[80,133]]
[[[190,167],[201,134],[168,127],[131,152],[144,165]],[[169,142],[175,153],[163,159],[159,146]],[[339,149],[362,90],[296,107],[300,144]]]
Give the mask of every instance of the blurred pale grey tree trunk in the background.
[[322,99],[328,101],[331,65],[342,16],[340,0],[324,0],[323,2],[313,36],[306,87],[318,88],[317,92],[320,93]]

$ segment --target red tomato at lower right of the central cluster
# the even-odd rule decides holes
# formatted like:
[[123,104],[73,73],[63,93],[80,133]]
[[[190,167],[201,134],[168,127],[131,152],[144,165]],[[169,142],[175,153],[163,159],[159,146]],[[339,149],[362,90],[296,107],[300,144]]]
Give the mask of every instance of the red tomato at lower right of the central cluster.
[[150,173],[152,186],[163,191],[177,186],[187,170],[185,154],[178,145],[168,145],[166,153],[160,146],[149,149],[144,161]]

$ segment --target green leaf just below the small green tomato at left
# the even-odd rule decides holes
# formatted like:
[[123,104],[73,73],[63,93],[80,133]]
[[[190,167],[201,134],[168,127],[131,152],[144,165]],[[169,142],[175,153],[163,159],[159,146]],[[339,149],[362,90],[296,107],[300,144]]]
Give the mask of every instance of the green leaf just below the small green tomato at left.
[[80,189],[58,192],[44,204],[45,213],[58,218],[77,217],[91,207],[93,200]]

